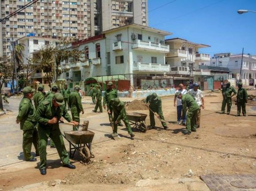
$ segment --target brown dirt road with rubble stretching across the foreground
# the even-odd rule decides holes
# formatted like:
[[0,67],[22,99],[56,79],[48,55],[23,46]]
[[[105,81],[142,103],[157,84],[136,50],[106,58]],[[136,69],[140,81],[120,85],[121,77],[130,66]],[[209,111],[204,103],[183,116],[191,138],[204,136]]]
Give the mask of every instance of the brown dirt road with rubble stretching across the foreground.
[[[256,92],[249,94],[256,95]],[[97,140],[93,143],[92,163],[75,162],[75,170],[61,167],[60,160],[50,164],[46,176],[41,176],[31,163],[0,168],[0,189],[22,189],[22,186],[46,181],[36,184],[37,189],[83,190],[86,186],[90,190],[140,190],[140,181],[150,180],[149,190],[168,190],[170,187],[154,183],[165,181],[162,185],[167,185],[168,181],[180,178],[199,181],[200,175],[212,173],[255,174],[256,107],[247,107],[247,117],[235,117],[235,105],[230,115],[218,113],[221,101],[220,93],[205,97],[201,127],[191,135],[183,135],[184,126],[176,124],[169,124],[169,129],[163,130],[156,119],[158,129],[138,132],[134,140],[127,133],[122,133],[120,140],[108,137]],[[162,104],[165,118],[176,121],[173,98],[163,99]],[[147,110],[138,112],[148,114]],[[107,116],[105,121],[107,123]],[[146,122],[148,125],[149,117]],[[60,180],[58,186],[57,179]],[[173,184],[171,188],[193,190],[183,184]],[[34,187],[26,187],[29,189]]]

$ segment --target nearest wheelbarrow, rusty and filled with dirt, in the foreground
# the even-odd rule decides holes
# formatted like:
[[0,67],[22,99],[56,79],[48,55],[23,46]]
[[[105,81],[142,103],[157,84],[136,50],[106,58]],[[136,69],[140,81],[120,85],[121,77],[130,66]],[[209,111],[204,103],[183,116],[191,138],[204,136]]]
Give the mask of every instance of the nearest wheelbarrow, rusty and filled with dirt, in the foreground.
[[[94,158],[91,152],[91,143],[94,138],[94,132],[91,131],[66,131],[64,138],[69,142],[69,155],[74,157],[75,151],[78,151],[85,162]],[[73,147],[72,147],[73,146]],[[74,152],[72,153],[72,150]]]

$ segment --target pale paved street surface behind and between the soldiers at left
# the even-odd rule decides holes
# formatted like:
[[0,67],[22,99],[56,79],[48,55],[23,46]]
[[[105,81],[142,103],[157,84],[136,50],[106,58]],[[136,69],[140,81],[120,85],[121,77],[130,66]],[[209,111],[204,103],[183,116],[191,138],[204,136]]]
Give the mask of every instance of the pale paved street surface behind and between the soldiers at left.
[[[127,98],[122,99],[127,101]],[[0,116],[0,166],[22,162],[23,161],[23,151],[22,151],[22,130],[19,129],[19,125],[15,123],[16,116],[18,114],[18,107],[20,99],[9,98],[9,104],[5,105],[4,108],[7,114]],[[112,132],[111,126],[109,126],[109,119],[105,110],[103,113],[92,113],[94,109],[91,103],[90,97],[83,99],[83,108],[85,114],[81,116],[80,121],[83,123],[84,120],[90,121],[89,129],[95,132],[94,143],[103,140],[109,140],[109,133]],[[72,130],[72,126],[60,125],[61,131]],[[128,133],[120,129],[120,132],[124,135]],[[68,142],[65,141],[66,148],[69,148]],[[32,151],[34,152],[34,147],[32,146]],[[57,153],[55,148],[47,147],[48,155]]]

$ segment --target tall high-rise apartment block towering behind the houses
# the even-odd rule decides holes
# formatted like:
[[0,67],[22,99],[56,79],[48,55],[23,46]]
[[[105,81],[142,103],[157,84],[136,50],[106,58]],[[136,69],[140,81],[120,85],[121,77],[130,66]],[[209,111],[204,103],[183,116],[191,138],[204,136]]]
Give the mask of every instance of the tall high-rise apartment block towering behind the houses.
[[[1,18],[31,1],[1,0]],[[148,25],[147,0],[39,0],[0,25],[0,55],[10,55],[10,42],[30,33],[84,39],[129,23]]]

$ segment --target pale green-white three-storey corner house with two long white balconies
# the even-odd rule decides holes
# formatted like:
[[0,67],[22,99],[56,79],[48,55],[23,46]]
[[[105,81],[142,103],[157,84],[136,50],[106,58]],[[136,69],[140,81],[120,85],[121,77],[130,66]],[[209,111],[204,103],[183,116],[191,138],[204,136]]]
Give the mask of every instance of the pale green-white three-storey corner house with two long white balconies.
[[150,79],[169,72],[170,66],[165,63],[169,45],[165,44],[164,39],[170,34],[147,26],[129,24],[79,40],[70,48],[83,50],[87,60],[75,64],[68,60],[62,63],[63,69],[70,70],[61,74],[60,78],[77,82],[88,77],[129,74],[131,86],[138,85],[136,79],[140,75]]

